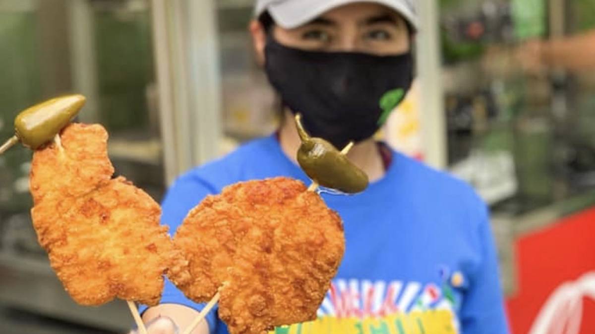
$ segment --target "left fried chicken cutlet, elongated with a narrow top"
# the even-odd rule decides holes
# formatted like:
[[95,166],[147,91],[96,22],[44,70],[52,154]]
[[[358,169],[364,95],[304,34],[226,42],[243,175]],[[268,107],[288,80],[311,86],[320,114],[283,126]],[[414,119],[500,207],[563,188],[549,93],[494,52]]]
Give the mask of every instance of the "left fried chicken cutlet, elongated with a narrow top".
[[114,299],[155,305],[162,275],[190,278],[174,248],[161,207],[126,179],[112,179],[107,132],[71,124],[33,155],[30,190],[33,225],[51,266],[82,305]]

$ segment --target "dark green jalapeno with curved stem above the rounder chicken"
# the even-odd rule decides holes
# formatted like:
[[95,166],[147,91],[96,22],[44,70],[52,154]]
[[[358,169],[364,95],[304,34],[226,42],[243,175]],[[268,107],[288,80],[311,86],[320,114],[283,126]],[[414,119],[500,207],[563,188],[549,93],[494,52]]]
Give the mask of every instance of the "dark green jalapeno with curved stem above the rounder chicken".
[[333,144],[309,136],[303,128],[300,114],[296,115],[296,125],[302,140],[297,150],[297,162],[308,177],[323,187],[347,194],[361,193],[368,187],[368,175],[353,165]]

